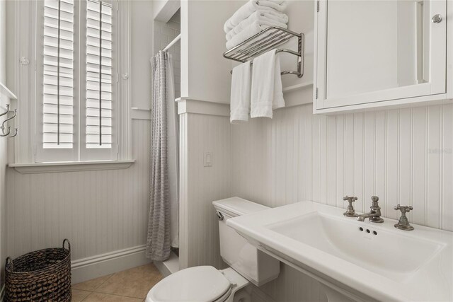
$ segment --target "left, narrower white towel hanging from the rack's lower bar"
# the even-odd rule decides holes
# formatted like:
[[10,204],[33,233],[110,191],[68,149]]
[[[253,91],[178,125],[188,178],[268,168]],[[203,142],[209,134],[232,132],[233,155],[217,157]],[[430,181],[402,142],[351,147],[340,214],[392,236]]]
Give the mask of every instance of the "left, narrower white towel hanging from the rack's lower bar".
[[251,67],[250,61],[233,69],[231,78],[230,117],[231,124],[247,122],[250,114]]

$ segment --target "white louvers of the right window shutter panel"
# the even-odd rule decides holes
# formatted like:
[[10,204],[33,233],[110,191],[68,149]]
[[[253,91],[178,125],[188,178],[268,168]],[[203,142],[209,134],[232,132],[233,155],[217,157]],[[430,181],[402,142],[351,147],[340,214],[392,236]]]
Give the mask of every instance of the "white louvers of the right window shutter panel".
[[86,148],[112,147],[112,6],[86,2]]

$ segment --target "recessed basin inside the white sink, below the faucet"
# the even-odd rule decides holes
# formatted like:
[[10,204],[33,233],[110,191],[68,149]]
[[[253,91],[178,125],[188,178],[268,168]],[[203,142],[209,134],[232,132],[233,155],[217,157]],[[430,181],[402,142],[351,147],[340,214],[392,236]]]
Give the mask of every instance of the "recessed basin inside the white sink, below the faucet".
[[[284,236],[396,281],[410,277],[444,245],[314,211],[267,226]],[[391,257],[389,257],[391,256]]]

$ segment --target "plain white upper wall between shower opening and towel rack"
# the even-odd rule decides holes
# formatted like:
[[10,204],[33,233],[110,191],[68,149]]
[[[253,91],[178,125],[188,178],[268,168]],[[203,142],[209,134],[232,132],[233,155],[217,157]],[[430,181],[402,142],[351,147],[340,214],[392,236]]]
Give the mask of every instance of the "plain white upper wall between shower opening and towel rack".
[[181,97],[229,103],[223,24],[236,1],[181,1]]

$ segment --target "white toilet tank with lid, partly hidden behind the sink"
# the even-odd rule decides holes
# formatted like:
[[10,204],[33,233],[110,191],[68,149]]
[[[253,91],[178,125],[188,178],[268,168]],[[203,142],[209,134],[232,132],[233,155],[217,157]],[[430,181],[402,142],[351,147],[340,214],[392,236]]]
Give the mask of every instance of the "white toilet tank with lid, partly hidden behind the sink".
[[269,208],[239,197],[217,200],[212,204],[219,216],[220,255],[224,262],[256,286],[277,278],[280,262],[261,252],[233,228],[226,226],[228,219]]

